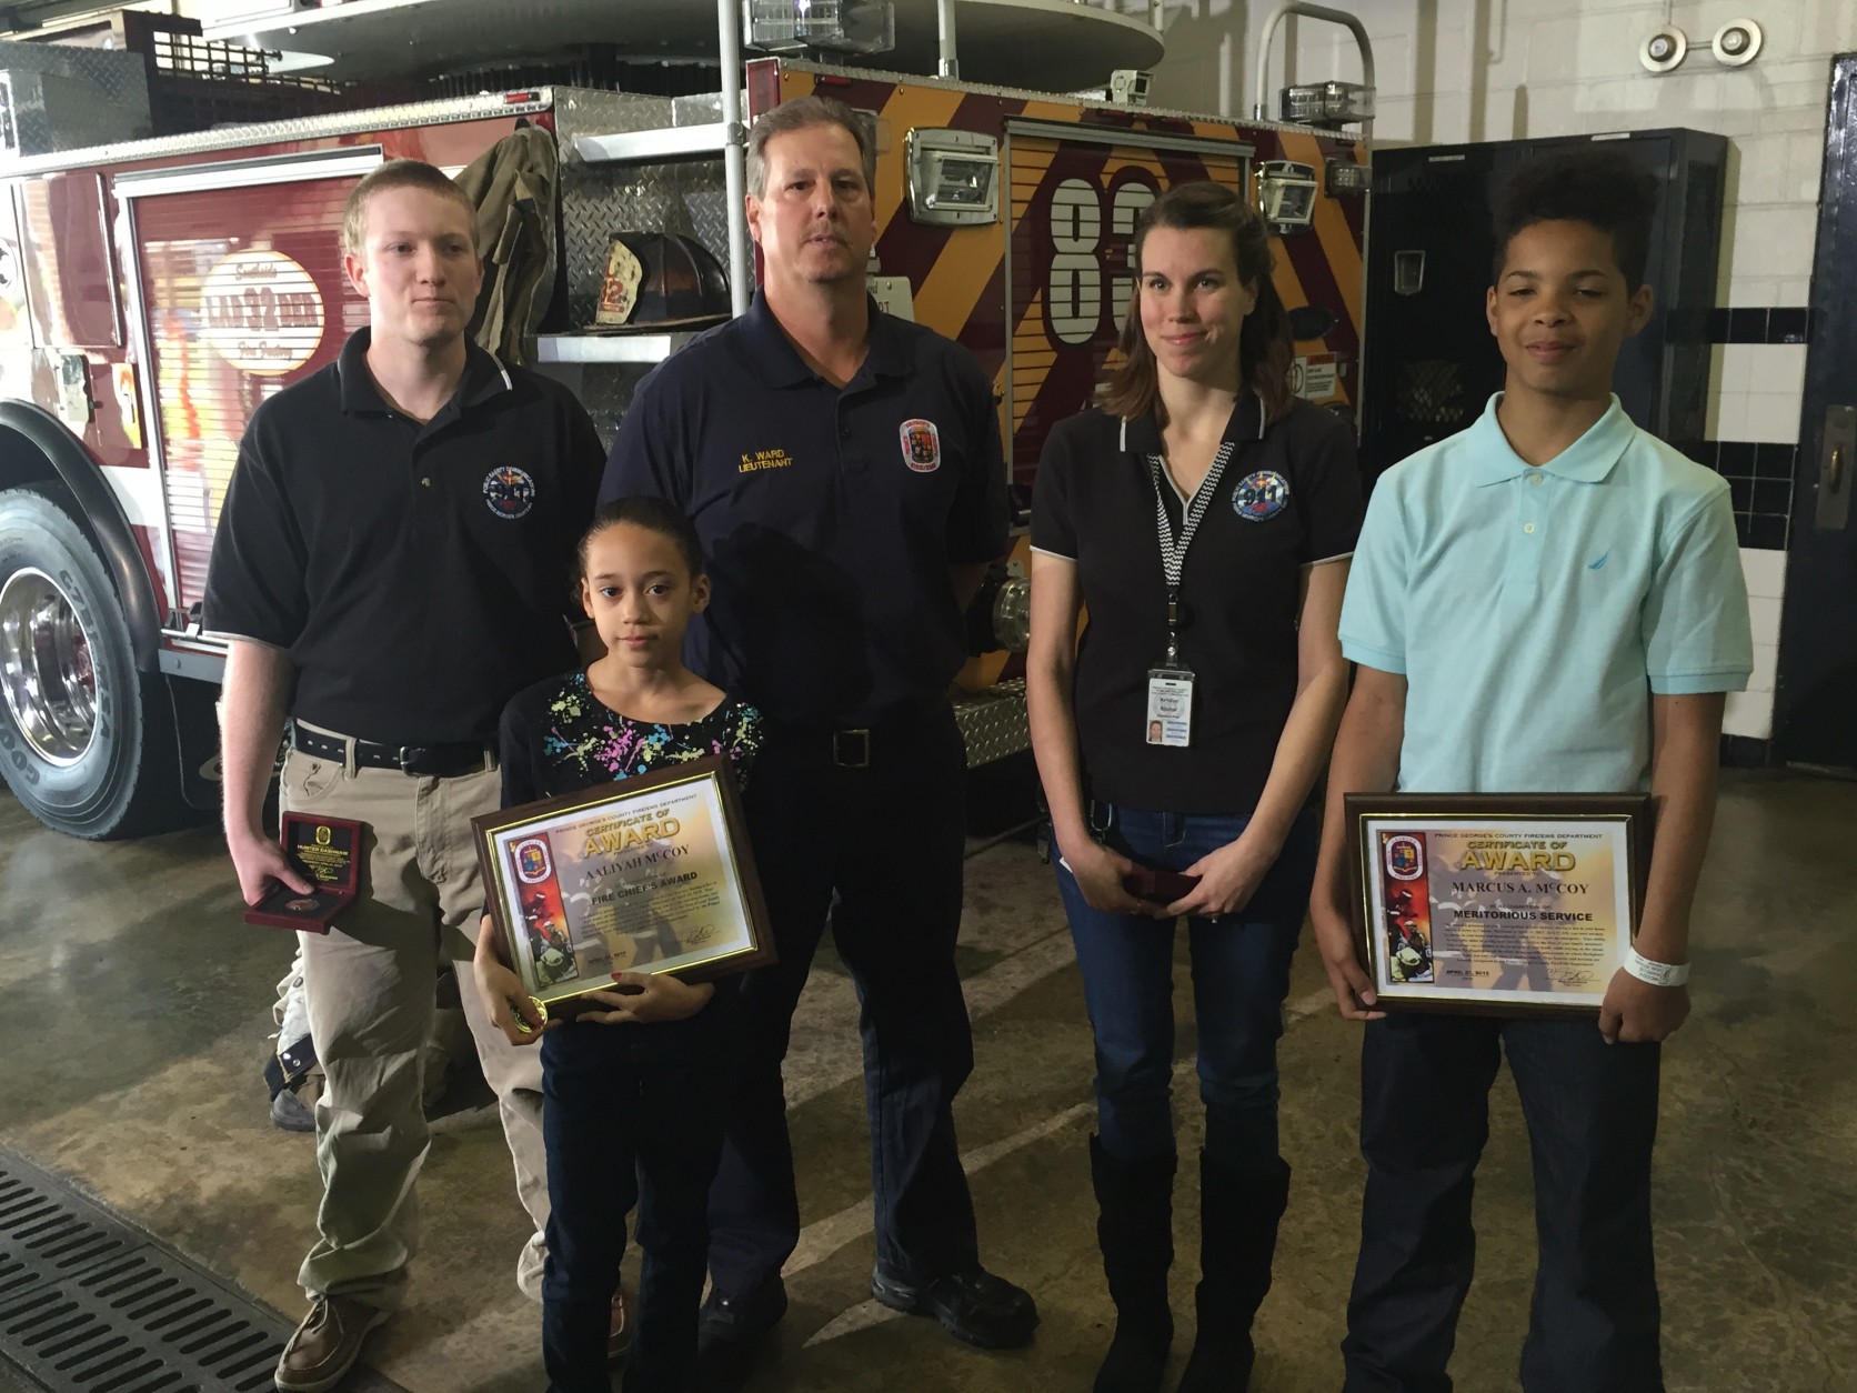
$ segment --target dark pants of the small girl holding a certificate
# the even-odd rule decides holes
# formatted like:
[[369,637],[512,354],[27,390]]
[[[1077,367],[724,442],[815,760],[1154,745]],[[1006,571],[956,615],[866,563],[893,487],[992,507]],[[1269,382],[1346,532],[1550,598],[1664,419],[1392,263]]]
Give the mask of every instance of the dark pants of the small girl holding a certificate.
[[[726,984],[724,984],[726,986]],[[639,1306],[626,1393],[676,1393],[696,1360],[709,1252],[709,1181],[722,1152],[721,1081],[734,1066],[717,999],[659,1025],[568,1022],[542,1036],[548,1265],[542,1363],[550,1393],[609,1393],[609,1304],[639,1207]]]

